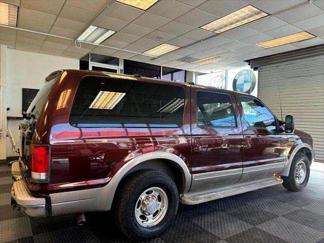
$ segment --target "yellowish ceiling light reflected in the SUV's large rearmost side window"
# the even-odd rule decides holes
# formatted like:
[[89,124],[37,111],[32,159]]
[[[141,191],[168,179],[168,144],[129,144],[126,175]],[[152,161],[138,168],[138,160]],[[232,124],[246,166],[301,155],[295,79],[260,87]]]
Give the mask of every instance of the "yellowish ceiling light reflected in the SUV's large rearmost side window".
[[112,110],[125,95],[126,93],[100,91],[89,108]]

